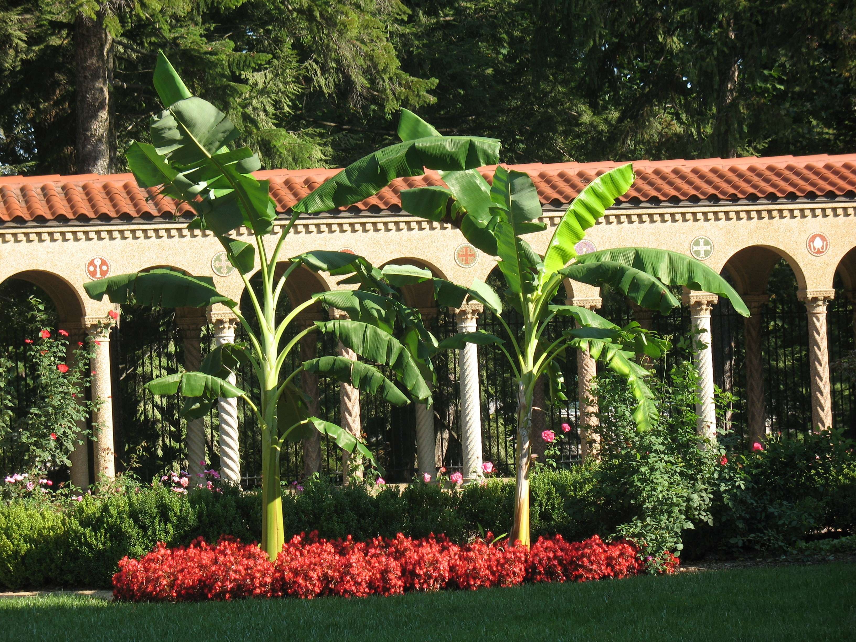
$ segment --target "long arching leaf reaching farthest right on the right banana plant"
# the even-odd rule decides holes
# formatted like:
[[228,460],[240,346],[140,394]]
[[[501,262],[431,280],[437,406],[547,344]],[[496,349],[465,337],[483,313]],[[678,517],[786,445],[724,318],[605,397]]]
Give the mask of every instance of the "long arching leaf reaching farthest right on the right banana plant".
[[731,301],[734,310],[744,317],[749,316],[749,308],[740,299],[740,294],[737,294],[722,276],[686,254],[649,247],[617,247],[577,257],[577,262],[583,265],[597,261],[615,261],[629,265],[656,277],[666,285],[682,285],[700,292],[724,296]]

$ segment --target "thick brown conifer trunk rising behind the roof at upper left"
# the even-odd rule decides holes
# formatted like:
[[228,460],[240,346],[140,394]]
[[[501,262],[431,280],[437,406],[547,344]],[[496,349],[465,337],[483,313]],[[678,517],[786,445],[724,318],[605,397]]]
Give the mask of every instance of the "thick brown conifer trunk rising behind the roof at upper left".
[[110,174],[110,49],[104,14],[74,23],[78,174]]

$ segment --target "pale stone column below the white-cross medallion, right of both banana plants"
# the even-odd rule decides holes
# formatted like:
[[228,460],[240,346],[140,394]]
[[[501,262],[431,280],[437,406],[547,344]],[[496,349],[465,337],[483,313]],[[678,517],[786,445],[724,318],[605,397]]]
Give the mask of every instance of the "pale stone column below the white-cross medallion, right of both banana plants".
[[696,431],[709,439],[716,439],[716,406],[713,401],[713,342],[710,338],[710,311],[719,297],[706,292],[684,294],[684,303],[690,308],[690,325],[695,332],[696,342],[701,345],[693,349],[693,362],[698,371],[698,403]]

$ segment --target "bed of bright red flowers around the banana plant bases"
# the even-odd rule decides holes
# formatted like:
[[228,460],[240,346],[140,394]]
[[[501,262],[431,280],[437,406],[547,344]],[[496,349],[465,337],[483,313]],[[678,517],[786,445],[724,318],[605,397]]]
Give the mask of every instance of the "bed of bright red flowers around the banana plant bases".
[[[490,538],[490,537],[489,537]],[[223,537],[217,544],[196,539],[187,548],[158,544],[140,560],[125,557],[113,576],[116,599],[187,602],[241,597],[395,595],[446,588],[478,589],[530,582],[582,582],[642,573],[639,550],[597,536],[566,542],[539,538],[532,550],[487,544],[458,545],[439,537],[351,538],[328,541],[316,533],[288,541],[276,562],[255,544]],[[665,565],[673,572],[677,560]]]

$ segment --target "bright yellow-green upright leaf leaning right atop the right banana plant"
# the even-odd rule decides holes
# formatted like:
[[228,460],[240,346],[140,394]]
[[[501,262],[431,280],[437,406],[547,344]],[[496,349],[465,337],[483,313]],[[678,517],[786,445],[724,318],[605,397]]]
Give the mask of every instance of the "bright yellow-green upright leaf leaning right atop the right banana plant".
[[631,164],[610,169],[586,185],[574,202],[568,205],[544,253],[542,282],[574,259],[577,255],[574,246],[582,241],[586,229],[597,223],[606,208],[615,205],[615,199],[630,189],[634,178]]

